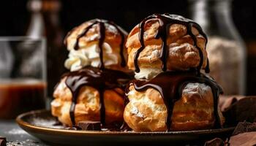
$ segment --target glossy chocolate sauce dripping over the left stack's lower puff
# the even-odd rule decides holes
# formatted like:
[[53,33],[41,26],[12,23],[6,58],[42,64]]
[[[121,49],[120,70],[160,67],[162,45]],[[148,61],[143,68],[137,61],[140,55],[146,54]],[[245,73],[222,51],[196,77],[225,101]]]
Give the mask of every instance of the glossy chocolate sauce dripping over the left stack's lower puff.
[[[82,87],[88,85],[99,91],[100,103],[100,122],[105,126],[105,104],[104,91],[106,89],[126,87],[129,82],[129,75],[112,69],[99,69],[91,66],[86,66],[75,72],[68,72],[63,77],[67,77],[65,81],[67,88],[72,92],[72,104],[69,110],[69,115],[73,126],[75,126],[75,105],[78,100],[78,94]],[[124,96],[124,95],[123,95]]]

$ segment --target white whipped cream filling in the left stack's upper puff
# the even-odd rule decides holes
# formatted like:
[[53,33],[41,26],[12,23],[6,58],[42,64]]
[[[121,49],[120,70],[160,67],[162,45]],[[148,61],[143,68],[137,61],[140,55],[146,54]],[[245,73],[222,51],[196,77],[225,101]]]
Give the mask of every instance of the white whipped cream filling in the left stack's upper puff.
[[[102,45],[103,49],[103,62],[106,68],[111,65],[118,64],[121,59],[118,53],[119,49],[113,49],[107,42]],[[79,50],[70,50],[69,57],[64,63],[64,66],[72,71],[82,69],[84,66],[99,67],[99,46],[97,43],[82,47]]]

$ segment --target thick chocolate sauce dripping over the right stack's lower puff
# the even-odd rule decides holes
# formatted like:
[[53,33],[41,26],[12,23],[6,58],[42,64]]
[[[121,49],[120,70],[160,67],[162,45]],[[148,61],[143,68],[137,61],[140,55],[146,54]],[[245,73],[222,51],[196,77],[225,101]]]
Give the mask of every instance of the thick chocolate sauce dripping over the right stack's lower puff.
[[154,88],[162,96],[165,106],[167,107],[166,126],[170,131],[171,117],[173,106],[178,99],[181,99],[181,93],[185,85],[189,82],[204,83],[211,87],[214,95],[214,116],[215,127],[220,128],[221,122],[218,114],[219,93],[222,93],[222,88],[205,74],[197,74],[197,72],[162,72],[151,80],[132,80],[132,84],[136,91],[146,91],[148,88]]

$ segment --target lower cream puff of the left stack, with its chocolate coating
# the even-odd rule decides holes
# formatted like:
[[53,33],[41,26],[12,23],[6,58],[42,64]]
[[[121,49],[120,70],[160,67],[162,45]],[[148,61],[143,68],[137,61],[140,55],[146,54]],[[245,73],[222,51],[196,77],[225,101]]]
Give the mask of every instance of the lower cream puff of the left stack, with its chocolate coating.
[[89,66],[64,74],[53,93],[52,115],[67,126],[80,121],[122,123],[128,81],[124,72]]

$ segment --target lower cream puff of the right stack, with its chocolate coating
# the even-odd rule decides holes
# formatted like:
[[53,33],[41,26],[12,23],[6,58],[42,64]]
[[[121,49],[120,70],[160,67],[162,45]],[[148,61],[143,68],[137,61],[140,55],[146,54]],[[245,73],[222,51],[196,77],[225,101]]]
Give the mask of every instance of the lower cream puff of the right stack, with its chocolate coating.
[[193,72],[163,72],[152,80],[133,80],[124,120],[134,131],[221,127],[225,120],[217,107],[221,92],[216,82]]

